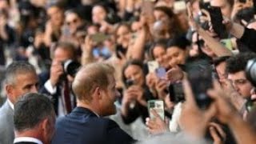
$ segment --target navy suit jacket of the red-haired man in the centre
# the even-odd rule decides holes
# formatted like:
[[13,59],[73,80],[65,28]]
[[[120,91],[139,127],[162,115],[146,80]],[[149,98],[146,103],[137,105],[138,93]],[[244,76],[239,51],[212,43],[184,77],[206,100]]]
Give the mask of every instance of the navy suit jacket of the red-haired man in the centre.
[[70,114],[58,118],[53,144],[128,144],[134,139],[116,122],[99,118],[91,110],[76,107]]

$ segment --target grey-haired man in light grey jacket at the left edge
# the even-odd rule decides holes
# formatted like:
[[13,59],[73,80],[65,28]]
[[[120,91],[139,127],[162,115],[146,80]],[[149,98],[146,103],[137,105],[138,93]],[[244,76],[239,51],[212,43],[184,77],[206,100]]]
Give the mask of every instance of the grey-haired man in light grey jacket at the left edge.
[[0,144],[14,142],[14,104],[22,94],[38,92],[38,76],[27,62],[13,62],[6,69],[6,102],[0,108]]

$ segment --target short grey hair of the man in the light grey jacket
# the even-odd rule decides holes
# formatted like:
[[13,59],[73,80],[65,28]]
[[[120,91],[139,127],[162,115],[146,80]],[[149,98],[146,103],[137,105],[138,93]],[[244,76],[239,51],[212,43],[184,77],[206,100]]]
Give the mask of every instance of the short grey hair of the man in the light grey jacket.
[[15,85],[16,77],[18,74],[28,74],[28,73],[36,74],[36,70],[34,69],[34,66],[32,66],[29,62],[23,62],[23,61],[12,62],[6,68],[5,83],[6,85]]

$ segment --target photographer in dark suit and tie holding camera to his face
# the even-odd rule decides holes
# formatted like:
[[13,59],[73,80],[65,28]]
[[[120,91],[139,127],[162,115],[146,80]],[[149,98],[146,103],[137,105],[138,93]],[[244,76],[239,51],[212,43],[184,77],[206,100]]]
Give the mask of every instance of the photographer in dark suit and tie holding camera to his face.
[[[70,42],[58,42],[54,48],[53,61],[50,71],[39,75],[41,84],[43,85],[39,93],[49,95],[54,102],[54,109],[58,116],[69,114],[75,107],[75,98],[70,93],[70,83],[72,77],[66,74],[63,63],[67,60],[76,61],[76,50]],[[66,89],[67,94],[64,94]]]

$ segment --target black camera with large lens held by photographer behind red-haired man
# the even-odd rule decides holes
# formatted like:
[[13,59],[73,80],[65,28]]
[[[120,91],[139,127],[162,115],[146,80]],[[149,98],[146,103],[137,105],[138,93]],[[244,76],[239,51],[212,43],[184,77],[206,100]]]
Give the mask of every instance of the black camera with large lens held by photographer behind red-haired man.
[[64,73],[74,78],[81,64],[79,62],[69,59],[69,60],[66,60],[65,62],[62,62],[62,66],[63,66]]

